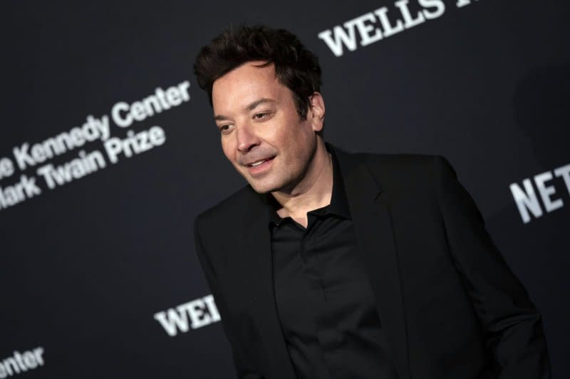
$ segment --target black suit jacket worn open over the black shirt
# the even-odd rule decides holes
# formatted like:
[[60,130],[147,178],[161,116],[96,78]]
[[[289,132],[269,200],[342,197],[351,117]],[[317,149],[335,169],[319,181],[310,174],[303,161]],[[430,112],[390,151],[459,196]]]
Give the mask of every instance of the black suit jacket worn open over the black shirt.
[[[449,162],[331,148],[400,378],[550,378],[541,315]],[[238,377],[296,378],[264,197],[247,186],[199,214],[195,242]]]

